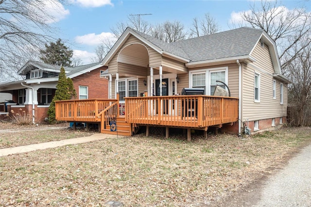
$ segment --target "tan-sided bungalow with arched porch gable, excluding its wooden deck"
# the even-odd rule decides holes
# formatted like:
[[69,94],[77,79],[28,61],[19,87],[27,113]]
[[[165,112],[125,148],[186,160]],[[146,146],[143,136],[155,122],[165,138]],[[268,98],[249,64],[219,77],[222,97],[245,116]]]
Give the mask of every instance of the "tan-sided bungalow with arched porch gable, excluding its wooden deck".
[[102,64],[109,69],[108,96],[119,92],[121,103],[145,91],[172,96],[183,88],[204,88],[213,95],[221,80],[239,98],[240,120],[218,125],[222,131],[241,134],[245,127],[262,131],[286,122],[289,80],[281,73],[275,42],[263,30],[243,27],[166,43],[127,28]]

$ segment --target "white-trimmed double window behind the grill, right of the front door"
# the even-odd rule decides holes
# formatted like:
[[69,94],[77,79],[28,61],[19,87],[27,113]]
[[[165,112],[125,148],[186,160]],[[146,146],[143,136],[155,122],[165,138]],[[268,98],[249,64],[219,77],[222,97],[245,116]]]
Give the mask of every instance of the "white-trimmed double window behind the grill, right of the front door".
[[192,70],[189,73],[190,88],[204,88],[205,95],[213,95],[216,85],[225,89],[225,85],[216,80],[228,82],[228,67]]

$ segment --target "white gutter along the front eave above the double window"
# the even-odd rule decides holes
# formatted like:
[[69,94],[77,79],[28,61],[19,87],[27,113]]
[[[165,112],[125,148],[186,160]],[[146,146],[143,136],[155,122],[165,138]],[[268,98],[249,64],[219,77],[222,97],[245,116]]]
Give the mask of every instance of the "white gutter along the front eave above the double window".
[[214,59],[214,60],[207,60],[207,61],[198,61],[198,62],[192,62],[192,63],[186,63],[186,67],[197,67],[197,66],[204,66],[208,64],[215,64],[218,62],[232,62],[236,63],[237,60],[245,61],[245,62],[256,62],[256,59],[253,58],[250,55],[244,55],[244,56],[238,56],[238,57],[230,57],[230,58],[221,58],[221,59]]

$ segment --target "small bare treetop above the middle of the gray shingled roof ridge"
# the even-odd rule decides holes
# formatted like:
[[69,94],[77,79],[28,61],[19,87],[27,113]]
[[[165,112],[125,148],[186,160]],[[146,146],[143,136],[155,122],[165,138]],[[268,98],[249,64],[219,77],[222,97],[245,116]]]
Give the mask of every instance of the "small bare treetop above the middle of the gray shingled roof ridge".
[[190,28],[192,36],[203,36],[213,34],[220,31],[220,27],[216,19],[210,16],[209,13],[204,15],[204,18],[199,22],[198,18],[193,18],[192,26]]

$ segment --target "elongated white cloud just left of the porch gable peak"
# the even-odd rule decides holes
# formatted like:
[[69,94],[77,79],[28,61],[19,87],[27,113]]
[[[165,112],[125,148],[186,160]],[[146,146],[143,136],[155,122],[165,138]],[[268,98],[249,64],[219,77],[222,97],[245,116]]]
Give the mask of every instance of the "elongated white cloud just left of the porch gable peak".
[[102,32],[100,34],[89,33],[82,36],[76,36],[74,39],[79,44],[96,46],[101,44],[102,41],[107,38],[114,38],[113,34],[110,32]]

